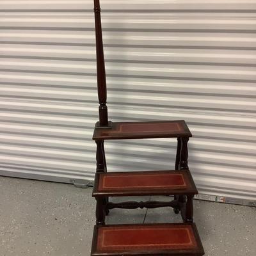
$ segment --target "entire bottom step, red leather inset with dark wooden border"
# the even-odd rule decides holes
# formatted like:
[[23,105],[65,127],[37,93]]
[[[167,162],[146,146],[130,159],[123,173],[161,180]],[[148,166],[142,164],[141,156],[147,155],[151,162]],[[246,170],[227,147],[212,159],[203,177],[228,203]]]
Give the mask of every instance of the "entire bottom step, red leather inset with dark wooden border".
[[95,226],[92,256],[202,256],[195,223]]

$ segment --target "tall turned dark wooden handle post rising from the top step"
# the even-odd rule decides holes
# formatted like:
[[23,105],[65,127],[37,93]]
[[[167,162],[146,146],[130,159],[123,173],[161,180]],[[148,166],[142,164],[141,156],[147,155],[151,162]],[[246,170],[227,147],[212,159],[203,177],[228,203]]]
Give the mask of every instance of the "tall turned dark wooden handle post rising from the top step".
[[95,35],[96,35],[96,54],[97,54],[97,87],[99,98],[99,123],[97,127],[110,127],[108,122],[108,107],[107,103],[107,86],[106,86],[106,70],[104,61],[104,50],[102,42],[102,28],[100,17],[100,2],[94,0],[94,15],[95,15]]

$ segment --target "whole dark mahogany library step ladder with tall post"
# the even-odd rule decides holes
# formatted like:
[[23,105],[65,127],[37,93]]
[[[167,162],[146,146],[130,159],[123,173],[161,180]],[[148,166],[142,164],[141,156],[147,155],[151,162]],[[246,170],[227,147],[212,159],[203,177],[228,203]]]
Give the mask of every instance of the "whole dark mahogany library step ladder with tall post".
[[[92,256],[100,255],[186,255],[202,256],[204,249],[193,223],[193,196],[198,194],[188,168],[188,141],[192,137],[186,122],[110,122],[106,105],[107,88],[102,43],[99,0],[94,0],[97,52],[99,122],[93,140],[97,145],[97,168],[93,197],[96,225]],[[175,170],[107,172],[104,141],[146,138],[177,138]],[[170,202],[109,202],[110,196],[173,195]],[[183,223],[106,225],[106,215],[114,208],[173,207]]]

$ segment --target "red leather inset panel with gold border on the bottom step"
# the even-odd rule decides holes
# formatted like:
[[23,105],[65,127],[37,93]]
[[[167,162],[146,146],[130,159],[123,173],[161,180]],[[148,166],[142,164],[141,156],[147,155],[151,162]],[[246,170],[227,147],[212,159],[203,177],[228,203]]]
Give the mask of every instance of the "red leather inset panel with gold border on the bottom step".
[[100,227],[97,250],[193,249],[196,239],[190,225],[137,225]]

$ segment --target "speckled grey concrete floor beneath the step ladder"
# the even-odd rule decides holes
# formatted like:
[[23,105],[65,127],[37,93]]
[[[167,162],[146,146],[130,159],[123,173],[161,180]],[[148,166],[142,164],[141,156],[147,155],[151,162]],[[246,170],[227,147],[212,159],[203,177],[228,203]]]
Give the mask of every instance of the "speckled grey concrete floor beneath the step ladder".
[[[90,255],[95,223],[92,188],[0,177],[0,189],[1,256]],[[143,199],[149,197],[138,198]],[[161,196],[161,200],[170,198]],[[256,255],[255,207],[195,200],[194,208],[205,255]],[[144,219],[145,223],[180,221],[168,208],[114,209],[107,223],[143,223]]]

